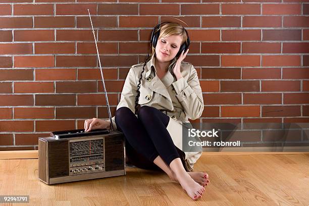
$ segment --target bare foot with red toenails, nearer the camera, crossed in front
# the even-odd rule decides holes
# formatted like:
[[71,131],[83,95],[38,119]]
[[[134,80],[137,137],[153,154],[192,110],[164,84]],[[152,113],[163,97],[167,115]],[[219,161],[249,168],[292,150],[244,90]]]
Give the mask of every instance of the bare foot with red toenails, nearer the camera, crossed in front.
[[184,190],[186,190],[187,194],[193,199],[196,200],[204,193],[205,188],[195,182],[188,173],[184,173],[181,176],[176,176],[176,179],[182,186]]

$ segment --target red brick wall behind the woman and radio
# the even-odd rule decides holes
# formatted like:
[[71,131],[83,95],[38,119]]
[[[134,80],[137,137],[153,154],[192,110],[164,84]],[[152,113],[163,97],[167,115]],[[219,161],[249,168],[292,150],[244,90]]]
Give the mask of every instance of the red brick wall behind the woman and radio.
[[[194,122],[309,122],[308,0],[1,0],[0,150],[37,149],[50,131],[108,117],[86,9],[113,113],[151,28],[177,17],[204,97]],[[265,145],[267,131],[252,129],[238,133]]]

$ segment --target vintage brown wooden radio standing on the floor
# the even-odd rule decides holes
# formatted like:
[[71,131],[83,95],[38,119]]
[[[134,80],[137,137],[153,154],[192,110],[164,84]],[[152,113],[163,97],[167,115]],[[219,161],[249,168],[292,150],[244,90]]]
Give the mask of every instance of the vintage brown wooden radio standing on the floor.
[[126,174],[121,132],[60,131],[54,137],[40,137],[38,146],[38,177],[46,184]]

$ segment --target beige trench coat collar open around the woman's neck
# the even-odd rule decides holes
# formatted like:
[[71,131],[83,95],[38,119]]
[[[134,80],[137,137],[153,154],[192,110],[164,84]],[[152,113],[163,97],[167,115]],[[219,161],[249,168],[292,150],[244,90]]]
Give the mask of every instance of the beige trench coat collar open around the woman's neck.
[[[147,72],[145,74],[145,78],[149,77],[151,74],[151,71],[153,71],[153,73],[155,74],[155,78],[157,78],[158,76],[156,75],[156,67],[155,67],[155,60],[156,60],[156,53],[152,55],[151,59],[146,63],[147,66]],[[169,66],[169,70],[167,72],[167,74],[161,79],[161,81],[163,82],[163,84],[168,87],[170,86],[173,82],[174,82],[174,76],[173,74],[173,67],[176,64],[177,59],[174,58]],[[159,78],[158,78],[159,79]],[[160,79],[159,79],[160,80]]]

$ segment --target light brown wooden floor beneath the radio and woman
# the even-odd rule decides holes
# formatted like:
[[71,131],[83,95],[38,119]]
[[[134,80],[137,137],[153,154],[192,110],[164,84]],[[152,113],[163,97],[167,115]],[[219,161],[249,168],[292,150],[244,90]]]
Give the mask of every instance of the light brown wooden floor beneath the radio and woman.
[[202,156],[195,171],[211,179],[197,201],[163,172],[46,185],[37,159],[0,160],[0,194],[30,195],[28,205],[309,205],[308,153]]

